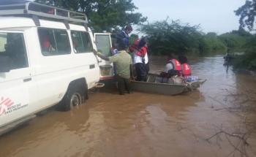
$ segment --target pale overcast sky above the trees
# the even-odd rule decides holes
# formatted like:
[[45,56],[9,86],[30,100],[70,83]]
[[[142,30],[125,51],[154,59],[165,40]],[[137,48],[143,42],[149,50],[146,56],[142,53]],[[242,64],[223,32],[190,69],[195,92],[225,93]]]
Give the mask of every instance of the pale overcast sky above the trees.
[[148,22],[181,20],[182,23],[200,24],[202,31],[222,34],[237,30],[238,16],[234,10],[245,0],[133,0],[137,12],[148,17]]

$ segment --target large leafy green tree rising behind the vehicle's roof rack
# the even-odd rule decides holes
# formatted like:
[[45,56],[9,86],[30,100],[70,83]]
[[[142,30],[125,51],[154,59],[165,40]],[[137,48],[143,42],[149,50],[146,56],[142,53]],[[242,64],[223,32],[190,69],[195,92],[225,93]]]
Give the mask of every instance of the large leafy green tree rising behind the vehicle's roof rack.
[[74,11],[84,12],[89,17],[89,26],[95,31],[112,31],[128,23],[139,24],[146,21],[135,9],[132,0],[36,0]]

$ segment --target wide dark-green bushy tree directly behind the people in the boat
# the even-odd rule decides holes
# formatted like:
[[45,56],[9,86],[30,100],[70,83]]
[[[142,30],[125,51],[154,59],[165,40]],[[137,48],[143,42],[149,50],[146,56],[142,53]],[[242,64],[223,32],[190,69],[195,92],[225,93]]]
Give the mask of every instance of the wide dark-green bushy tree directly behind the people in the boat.
[[142,25],[140,31],[148,36],[149,50],[154,54],[198,52],[203,33],[199,26],[181,24],[179,20],[157,21]]

